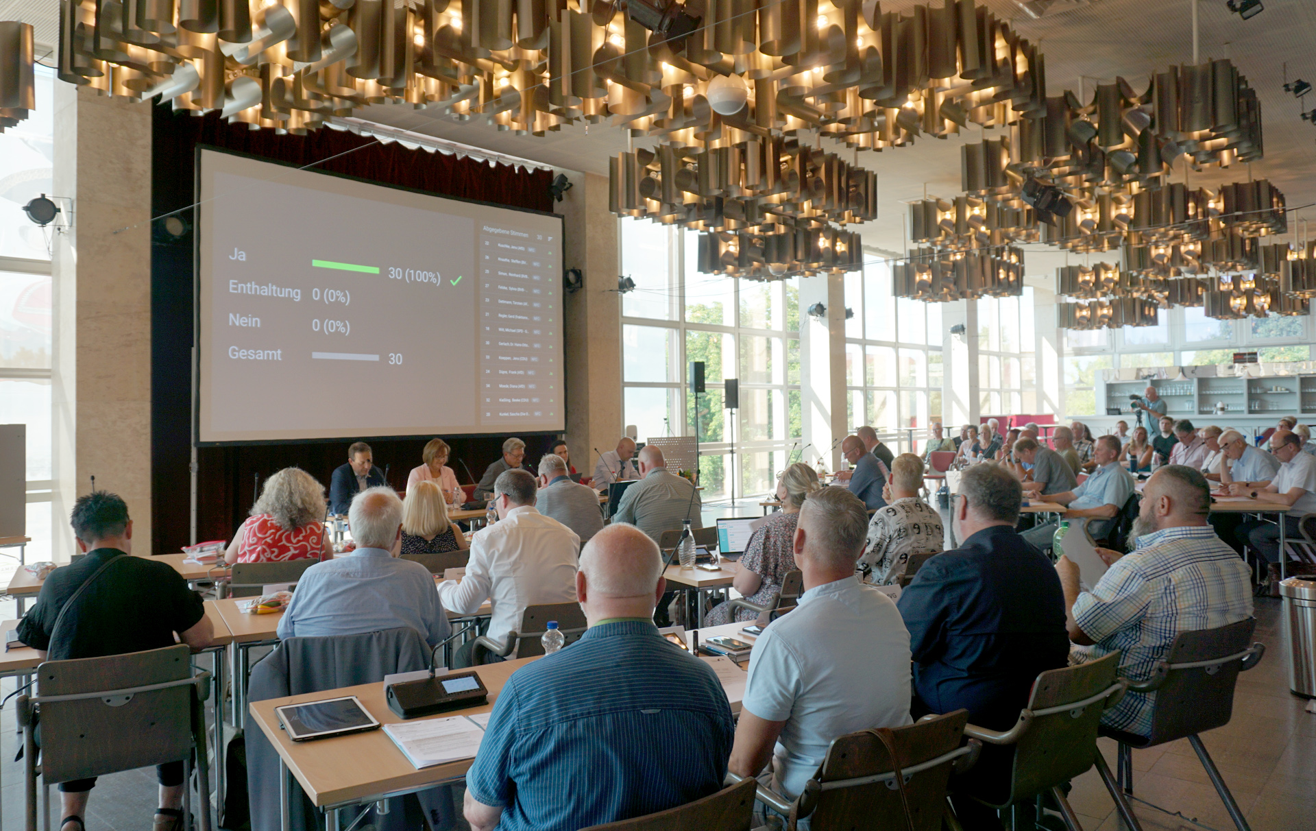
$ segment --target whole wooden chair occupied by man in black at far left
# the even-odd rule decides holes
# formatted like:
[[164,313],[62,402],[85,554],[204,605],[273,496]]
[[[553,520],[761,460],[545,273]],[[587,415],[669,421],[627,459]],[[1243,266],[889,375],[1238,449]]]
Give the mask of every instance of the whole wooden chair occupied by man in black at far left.
[[[211,673],[192,673],[187,644],[46,661],[37,668],[37,695],[20,695],[17,706],[24,731],[28,831],[37,831],[38,776],[42,805],[49,809],[54,784],[170,761],[183,763],[183,815],[188,817],[193,759],[200,797],[195,806],[197,824],[201,831],[211,830],[201,709],[211,694]],[[45,827],[50,827],[49,817]]]

